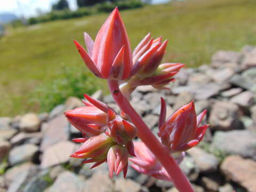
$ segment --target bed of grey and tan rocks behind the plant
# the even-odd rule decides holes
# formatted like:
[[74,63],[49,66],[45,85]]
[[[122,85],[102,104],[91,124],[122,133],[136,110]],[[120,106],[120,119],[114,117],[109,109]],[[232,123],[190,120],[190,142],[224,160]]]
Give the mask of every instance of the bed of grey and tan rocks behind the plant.
[[[195,100],[197,113],[208,109],[204,123],[211,124],[204,140],[190,149],[182,170],[197,192],[256,191],[256,47],[241,52],[218,51],[210,65],[182,69],[170,91],[139,87],[131,103],[154,133],[160,97],[172,114]],[[93,95],[118,110],[110,95]],[[55,107],[51,113],[0,118],[0,192],[63,191],[177,191],[172,183],[142,175],[129,168],[109,179],[107,165],[90,170],[69,155],[77,148],[70,141],[80,137],[63,111],[82,106],[77,98]]]

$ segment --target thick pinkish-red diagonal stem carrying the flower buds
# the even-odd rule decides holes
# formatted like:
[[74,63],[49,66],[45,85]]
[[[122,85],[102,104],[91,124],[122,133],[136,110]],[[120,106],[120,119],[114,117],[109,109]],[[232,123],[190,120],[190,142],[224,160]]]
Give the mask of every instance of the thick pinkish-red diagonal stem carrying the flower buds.
[[166,148],[155,137],[148,126],[143,122],[138,113],[133,109],[130,102],[124,97],[119,90],[119,84],[115,80],[108,80],[109,90],[116,101],[117,105],[131,118],[132,123],[138,129],[138,137],[152,151],[159,162],[164,166],[167,173],[172,178],[175,187],[180,192],[194,192],[186,175],[181,171],[174,158],[167,153]]

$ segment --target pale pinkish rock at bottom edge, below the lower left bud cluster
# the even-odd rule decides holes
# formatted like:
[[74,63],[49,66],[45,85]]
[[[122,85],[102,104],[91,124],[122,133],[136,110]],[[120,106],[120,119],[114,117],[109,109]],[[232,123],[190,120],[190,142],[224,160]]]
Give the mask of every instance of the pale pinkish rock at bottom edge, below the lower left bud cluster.
[[[100,181],[102,182],[102,181]],[[96,182],[94,182],[94,185]],[[65,171],[59,175],[56,181],[48,190],[49,192],[63,192],[63,191],[76,191],[82,192],[84,188],[84,181],[76,174]]]

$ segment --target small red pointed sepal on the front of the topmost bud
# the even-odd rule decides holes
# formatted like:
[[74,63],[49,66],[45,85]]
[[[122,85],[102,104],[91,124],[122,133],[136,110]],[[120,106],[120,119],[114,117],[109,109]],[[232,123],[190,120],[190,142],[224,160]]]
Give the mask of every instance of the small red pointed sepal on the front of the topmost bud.
[[122,46],[121,50],[117,53],[116,58],[110,68],[108,78],[122,79],[124,73],[124,50],[125,45]]

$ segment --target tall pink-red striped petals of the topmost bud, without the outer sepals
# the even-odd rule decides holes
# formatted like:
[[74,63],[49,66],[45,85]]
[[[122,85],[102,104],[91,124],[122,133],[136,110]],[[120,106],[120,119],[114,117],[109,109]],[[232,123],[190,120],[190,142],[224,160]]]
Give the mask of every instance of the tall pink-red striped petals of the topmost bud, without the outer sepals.
[[132,52],[124,22],[116,7],[100,28],[93,47],[92,60],[97,63],[103,78],[108,77],[110,67],[123,45],[125,45],[125,73],[123,74],[123,79],[125,79],[130,76]]

